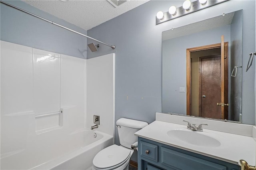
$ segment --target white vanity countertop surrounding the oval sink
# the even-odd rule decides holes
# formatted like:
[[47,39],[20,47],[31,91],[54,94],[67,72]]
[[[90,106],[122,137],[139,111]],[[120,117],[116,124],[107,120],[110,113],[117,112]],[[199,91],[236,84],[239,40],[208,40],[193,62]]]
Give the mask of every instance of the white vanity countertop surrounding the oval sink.
[[[189,141],[185,142],[172,138],[167,135],[169,130],[188,129],[186,128],[186,125],[154,121],[150,125],[136,132],[135,135],[233,164],[238,164],[239,160],[243,159],[249,165],[255,166],[256,141],[250,136],[242,136],[208,129],[204,129],[203,132],[195,131],[196,133],[215,138],[221,143],[220,146],[217,147],[205,147],[190,144]],[[191,140],[197,139],[193,138]]]

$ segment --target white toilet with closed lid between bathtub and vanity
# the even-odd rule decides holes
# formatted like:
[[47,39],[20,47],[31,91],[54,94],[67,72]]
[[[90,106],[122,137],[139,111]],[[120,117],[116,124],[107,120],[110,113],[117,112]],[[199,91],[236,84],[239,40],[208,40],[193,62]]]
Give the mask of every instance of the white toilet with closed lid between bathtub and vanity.
[[128,170],[130,158],[134,152],[131,146],[138,141],[134,135],[148,123],[121,118],[116,121],[120,146],[113,144],[104,148],[92,161],[92,170]]

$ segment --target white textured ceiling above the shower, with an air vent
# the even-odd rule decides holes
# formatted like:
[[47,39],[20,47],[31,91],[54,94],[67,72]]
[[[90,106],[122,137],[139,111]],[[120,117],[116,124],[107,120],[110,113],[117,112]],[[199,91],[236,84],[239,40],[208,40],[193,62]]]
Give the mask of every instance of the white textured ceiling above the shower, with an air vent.
[[84,30],[98,26],[149,0],[127,0],[115,8],[107,0],[23,0],[44,12],[70,22]]

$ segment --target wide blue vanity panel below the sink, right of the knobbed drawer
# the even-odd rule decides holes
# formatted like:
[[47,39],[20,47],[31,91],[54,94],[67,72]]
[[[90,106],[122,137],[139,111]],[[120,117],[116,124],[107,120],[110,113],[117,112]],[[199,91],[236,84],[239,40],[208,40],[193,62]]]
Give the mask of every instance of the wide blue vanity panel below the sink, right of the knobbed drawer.
[[161,164],[169,166],[170,168],[178,168],[182,170],[226,170],[227,167],[210,162],[208,160],[200,159],[182,152],[177,152],[172,149],[160,148]]

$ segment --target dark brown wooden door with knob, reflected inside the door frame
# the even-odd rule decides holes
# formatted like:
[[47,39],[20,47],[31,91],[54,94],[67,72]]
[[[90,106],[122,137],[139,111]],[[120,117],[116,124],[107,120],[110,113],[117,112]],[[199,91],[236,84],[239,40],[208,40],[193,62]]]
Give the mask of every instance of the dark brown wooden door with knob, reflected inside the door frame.
[[199,57],[199,116],[221,119],[221,56]]

